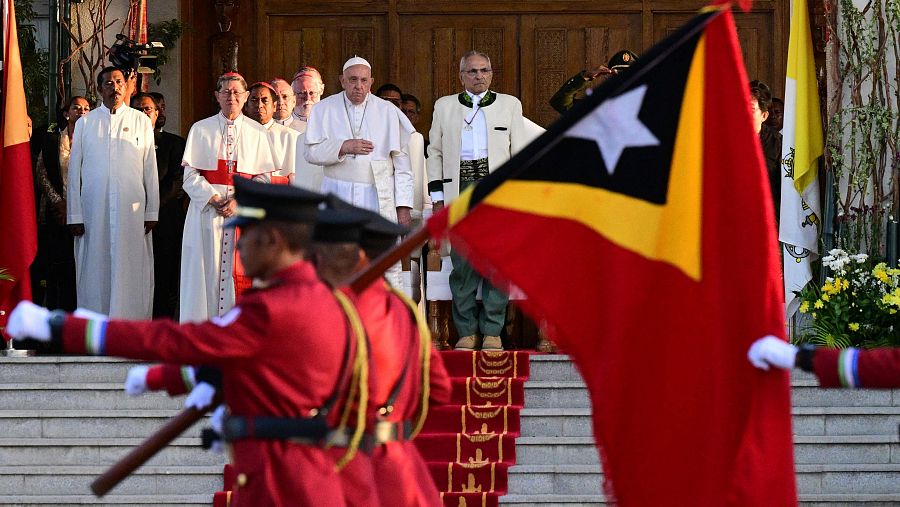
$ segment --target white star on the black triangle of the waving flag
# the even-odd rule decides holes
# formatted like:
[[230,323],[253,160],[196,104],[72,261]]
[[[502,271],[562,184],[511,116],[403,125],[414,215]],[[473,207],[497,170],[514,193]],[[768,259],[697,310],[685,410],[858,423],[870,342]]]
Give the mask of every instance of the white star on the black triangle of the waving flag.
[[642,85],[605,100],[566,135],[596,142],[612,175],[625,148],[659,145],[659,139],[637,117],[646,92],[647,85]]

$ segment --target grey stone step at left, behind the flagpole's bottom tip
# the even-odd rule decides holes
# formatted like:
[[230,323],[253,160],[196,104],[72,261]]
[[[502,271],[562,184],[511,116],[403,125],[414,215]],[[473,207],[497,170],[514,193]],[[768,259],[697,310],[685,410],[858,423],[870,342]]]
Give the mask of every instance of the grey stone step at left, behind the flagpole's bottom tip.
[[[86,494],[90,484],[106,471],[102,466],[0,466],[4,493],[26,495]],[[138,469],[113,490],[128,495],[206,494],[207,500],[222,486],[220,466],[147,466]],[[43,496],[43,495],[42,495]]]

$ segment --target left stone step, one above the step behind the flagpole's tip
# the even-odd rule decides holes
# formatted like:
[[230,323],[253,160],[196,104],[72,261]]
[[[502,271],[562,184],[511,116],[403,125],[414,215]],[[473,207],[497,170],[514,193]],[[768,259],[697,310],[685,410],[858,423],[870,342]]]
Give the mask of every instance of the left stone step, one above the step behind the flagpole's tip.
[[[4,465],[111,465],[143,442],[142,438],[2,438]],[[148,465],[222,466],[226,456],[204,451],[199,438],[177,438]]]

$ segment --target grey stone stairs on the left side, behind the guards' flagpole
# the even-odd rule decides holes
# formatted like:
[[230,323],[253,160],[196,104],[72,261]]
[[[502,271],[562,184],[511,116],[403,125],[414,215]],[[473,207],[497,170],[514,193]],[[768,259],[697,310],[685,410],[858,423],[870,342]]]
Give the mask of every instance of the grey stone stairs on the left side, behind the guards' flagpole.
[[94,357],[0,358],[0,505],[212,505],[226,458],[191,428],[106,497],[89,484],[182,399],[122,391],[135,363]]

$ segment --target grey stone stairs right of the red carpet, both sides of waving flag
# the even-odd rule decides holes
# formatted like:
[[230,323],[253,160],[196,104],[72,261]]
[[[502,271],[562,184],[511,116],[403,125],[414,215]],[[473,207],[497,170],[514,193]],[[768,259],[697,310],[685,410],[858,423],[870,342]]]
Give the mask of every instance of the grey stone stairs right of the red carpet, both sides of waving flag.
[[[824,390],[792,378],[802,505],[900,505],[900,390]],[[565,356],[533,355],[506,505],[602,505],[590,402]]]

